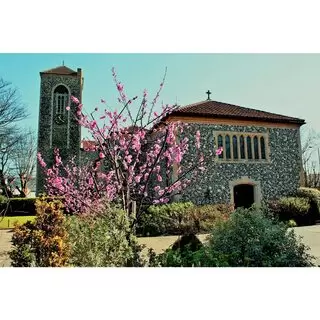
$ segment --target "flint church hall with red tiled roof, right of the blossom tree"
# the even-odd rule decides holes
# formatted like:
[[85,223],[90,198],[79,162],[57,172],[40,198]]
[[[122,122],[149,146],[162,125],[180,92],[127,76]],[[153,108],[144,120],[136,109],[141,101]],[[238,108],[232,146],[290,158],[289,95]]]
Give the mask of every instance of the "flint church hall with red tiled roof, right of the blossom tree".
[[183,193],[183,201],[249,207],[294,195],[301,185],[302,119],[208,99],[178,109],[167,121],[188,123],[190,140],[199,130],[209,158],[212,150],[223,148],[206,164],[201,179]]

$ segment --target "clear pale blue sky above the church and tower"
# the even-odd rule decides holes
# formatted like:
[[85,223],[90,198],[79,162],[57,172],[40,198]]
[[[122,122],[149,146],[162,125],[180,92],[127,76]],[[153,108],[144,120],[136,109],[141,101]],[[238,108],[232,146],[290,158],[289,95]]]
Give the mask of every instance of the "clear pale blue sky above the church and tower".
[[320,54],[0,54],[0,77],[18,87],[30,113],[22,125],[37,129],[39,72],[63,60],[83,69],[87,110],[101,98],[115,103],[112,67],[128,96],[154,94],[167,67],[164,103],[205,100],[210,89],[213,100],[299,117],[320,132]]

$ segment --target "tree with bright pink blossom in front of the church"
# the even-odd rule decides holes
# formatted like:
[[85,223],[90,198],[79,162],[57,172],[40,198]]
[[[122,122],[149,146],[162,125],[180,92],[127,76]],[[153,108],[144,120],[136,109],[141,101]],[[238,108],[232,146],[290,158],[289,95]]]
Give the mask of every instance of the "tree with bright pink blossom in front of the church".
[[[112,75],[120,110],[111,110],[101,99],[103,111],[95,108],[86,114],[80,101],[71,97],[77,106],[75,117],[94,141],[86,151],[95,152],[96,158],[82,166],[74,161],[64,164],[56,149],[52,168],[40,154],[38,160],[45,171],[47,193],[64,197],[67,210],[94,212],[107,200],[120,203],[128,215],[135,204],[138,218],[144,205],[167,203],[205,170],[201,136],[197,131],[194,141],[189,141],[184,135],[186,124],[164,121],[176,105],[162,104],[161,111],[155,111],[165,76],[152,100],[144,90],[138,102],[137,96],[127,97],[114,69]],[[72,112],[69,106],[67,110]],[[193,161],[185,162],[190,143],[196,152],[192,150]]]

